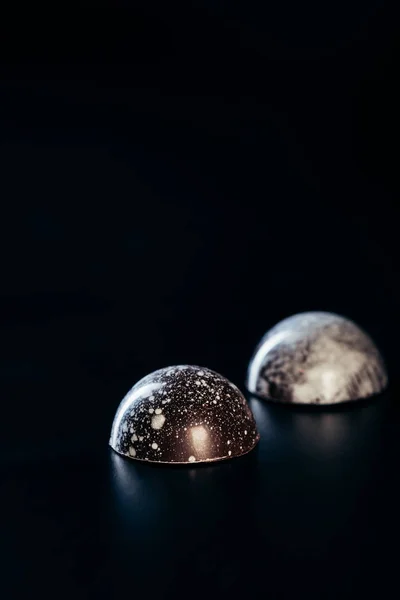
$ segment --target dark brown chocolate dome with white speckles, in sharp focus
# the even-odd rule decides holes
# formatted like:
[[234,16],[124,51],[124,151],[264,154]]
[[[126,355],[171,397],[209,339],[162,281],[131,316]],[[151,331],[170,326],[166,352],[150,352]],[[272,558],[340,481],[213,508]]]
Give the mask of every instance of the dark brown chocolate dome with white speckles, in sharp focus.
[[240,390],[214,371],[184,365],[133,386],[118,407],[110,446],[138,460],[196,463],[246,454],[258,439]]

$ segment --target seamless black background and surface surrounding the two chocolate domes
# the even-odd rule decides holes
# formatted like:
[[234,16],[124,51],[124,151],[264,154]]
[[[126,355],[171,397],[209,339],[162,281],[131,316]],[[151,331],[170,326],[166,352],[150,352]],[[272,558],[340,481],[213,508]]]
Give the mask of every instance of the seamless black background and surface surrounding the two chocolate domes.
[[[4,598],[385,596],[395,576],[396,19],[263,4],[2,25]],[[390,393],[253,401],[259,449],[217,467],[109,455],[137,379],[188,363],[243,387],[302,310],[364,326]]]

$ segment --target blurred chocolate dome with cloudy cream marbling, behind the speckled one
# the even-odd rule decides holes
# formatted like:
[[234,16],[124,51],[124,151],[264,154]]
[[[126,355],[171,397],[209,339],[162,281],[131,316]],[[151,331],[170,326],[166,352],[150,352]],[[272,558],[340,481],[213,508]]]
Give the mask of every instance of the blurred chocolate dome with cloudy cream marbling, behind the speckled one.
[[280,402],[336,404],[382,392],[387,374],[375,344],[352,321],[309,312],[281,321],[263,337],[246,385]]

